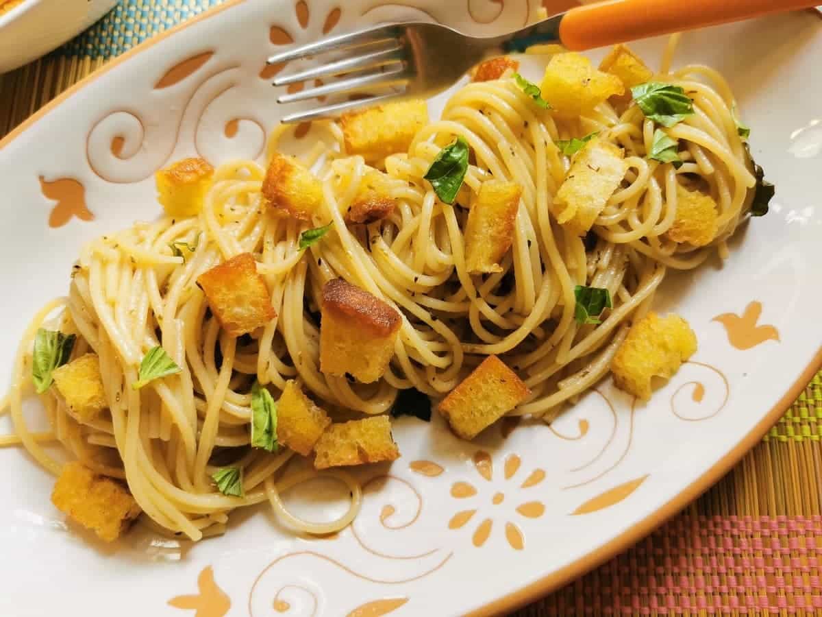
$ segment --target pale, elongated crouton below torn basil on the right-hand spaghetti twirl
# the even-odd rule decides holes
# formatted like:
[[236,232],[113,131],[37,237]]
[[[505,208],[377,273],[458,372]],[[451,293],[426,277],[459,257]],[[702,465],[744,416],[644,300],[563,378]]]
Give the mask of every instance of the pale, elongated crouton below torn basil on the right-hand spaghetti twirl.
[[577,235],[587,234],[627,170],[625,152],[594,137],[575,155],[554,196],[552,213],[556,220]]

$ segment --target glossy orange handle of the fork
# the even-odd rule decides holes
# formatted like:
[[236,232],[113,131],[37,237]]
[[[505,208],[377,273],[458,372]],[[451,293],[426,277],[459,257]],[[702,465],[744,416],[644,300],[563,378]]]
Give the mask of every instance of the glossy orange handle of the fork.
[[815,7],[820,0],[607,0],[572,8],[560,39],[574,51]]

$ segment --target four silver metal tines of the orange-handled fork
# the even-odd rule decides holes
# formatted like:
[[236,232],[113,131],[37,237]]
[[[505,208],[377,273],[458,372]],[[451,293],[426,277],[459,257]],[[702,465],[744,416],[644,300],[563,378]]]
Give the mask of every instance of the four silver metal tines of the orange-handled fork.
[[[307,80],[334,78],[334,81],[302,89],[290,94],[280,95],[278,103],[293,103],[298,100],[313,99],[321,96],[338,95],[346,92],[372,88],[403,86],[411,75],[407,50],[402,39],[404,29],[401,26],[377,26],[349,34],[332,36],[327,39],[301,45],[270,58],[270,64],[284,63],[301,58],[316,56],[330,51],[351,53],[349,57],[329,63],[319,64],[305,70],[275,77],[275,86],[287,86]],[[376,100],[396,95],[396,92],[385,96],[373,96],[344,103],[329,104],[283,118],[284,123],[302,122],[316,118],[327,118],[331,115],[363,104],[372,104]]]

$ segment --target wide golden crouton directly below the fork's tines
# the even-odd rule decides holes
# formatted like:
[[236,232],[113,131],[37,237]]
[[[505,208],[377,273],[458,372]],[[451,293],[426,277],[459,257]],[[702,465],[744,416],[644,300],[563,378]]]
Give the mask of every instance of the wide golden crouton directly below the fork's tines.
[[345,151],[368,161],[408,151],[414,135],[427,123],[428,108],[421,99],[352,111],[339,118]]

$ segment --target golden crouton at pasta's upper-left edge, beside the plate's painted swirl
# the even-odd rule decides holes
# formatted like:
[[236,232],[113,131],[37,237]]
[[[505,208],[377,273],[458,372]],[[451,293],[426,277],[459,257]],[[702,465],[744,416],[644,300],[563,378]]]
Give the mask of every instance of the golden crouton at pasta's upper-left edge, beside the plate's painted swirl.
[[178,160],[155,174],[159,202],[169,216],[196,216],[211,188],[214,168],[203,159]]

